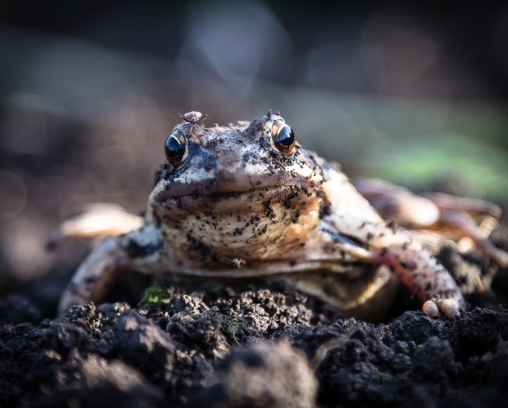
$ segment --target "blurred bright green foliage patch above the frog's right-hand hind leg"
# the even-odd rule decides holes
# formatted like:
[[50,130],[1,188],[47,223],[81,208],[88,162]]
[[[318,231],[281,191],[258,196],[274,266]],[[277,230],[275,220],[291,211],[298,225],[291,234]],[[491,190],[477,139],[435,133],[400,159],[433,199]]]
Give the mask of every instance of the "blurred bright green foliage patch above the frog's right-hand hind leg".
[[366,172],[404,185],[457,183],[456,191],[508,202],[508,152],[464,134],[438,132],[384,145]]

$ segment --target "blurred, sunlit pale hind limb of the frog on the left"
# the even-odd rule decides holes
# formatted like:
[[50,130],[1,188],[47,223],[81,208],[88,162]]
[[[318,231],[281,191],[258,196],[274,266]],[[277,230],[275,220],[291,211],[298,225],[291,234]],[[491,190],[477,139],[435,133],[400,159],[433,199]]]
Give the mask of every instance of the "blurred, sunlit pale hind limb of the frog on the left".
[[46,246],[54,249],[65,241],[103,235],[120,235],[143,226],[143,217],[112,203],[89,203],[50,231]]

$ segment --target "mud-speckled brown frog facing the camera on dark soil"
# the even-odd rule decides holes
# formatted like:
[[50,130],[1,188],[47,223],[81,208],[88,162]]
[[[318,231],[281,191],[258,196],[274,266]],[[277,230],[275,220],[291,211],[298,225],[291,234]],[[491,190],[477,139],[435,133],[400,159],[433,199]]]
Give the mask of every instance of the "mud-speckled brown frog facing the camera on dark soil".
[[[360,317],[386,309],[402,282],[428,316],[456,320],[466,310],[434,255],[385,221],[340,165],[306,150],[279,112],[210,128],[205,117],[180,115],[144,216],[133,216],[125,230],[106,228],[119,235],[77,268],[60,314],[102,302],[127,271],[280,279]],[[63,223],[55,236],[76,234],[78,224]]]

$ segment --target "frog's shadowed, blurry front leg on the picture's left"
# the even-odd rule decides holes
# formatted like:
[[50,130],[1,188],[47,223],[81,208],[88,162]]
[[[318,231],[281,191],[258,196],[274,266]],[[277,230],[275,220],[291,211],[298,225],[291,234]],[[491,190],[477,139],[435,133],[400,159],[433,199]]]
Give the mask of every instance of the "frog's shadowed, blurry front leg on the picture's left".
[[149,273],[159,265],[161,246],[160,230],[152,225],[104,240],[79,265],[60,297],[59,315],[73,305],[102,302],[126,271]]

